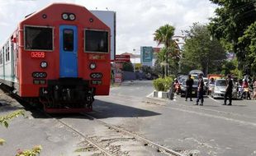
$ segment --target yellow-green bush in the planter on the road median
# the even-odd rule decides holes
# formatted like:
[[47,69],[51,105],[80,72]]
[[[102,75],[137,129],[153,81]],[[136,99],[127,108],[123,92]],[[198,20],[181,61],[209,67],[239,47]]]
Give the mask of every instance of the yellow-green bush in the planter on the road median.
[[159,78],[153,81],[154,89],[157,91],[168,91],[173,83],[172,77]]

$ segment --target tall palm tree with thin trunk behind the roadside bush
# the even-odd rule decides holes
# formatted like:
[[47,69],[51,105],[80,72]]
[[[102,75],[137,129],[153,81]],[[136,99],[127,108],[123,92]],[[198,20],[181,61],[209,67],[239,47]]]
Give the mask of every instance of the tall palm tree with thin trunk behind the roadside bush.
[[158,44],[164,44],[164,47],[166,48],[165,53],[165,76],[168,76],[168,54],[170,53],[170,49],[173,45],[173,35],[174,35],[175,28],[172,25],[164,25],[159,27],[158,30],[155,30],[154,32],[154,41],[157,41]]

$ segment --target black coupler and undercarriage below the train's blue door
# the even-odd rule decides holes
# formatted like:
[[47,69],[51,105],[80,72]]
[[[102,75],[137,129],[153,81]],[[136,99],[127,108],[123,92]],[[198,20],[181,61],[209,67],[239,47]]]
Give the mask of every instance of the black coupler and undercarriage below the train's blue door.
[[48,80],[48,86],[40,88],[40,103],[45,112],[90,112],[94,101],[94,89],[88,80],[60,78]]

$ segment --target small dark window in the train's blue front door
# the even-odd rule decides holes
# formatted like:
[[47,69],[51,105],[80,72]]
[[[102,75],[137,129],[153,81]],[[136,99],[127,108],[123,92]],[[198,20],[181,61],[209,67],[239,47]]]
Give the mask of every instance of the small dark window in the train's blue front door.
[[73,30],[63,31],[63,48],[64,51],[73,51]]

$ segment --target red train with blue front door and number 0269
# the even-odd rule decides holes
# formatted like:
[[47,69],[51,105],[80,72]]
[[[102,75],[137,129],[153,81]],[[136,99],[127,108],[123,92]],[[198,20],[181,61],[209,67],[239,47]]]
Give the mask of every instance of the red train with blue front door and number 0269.
[[91,111],[110,77],[110,28],[82,6],[54,3],[26,16],[0,49],[1,83],[45,112]]

